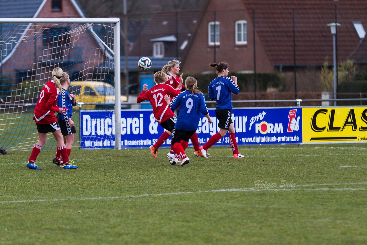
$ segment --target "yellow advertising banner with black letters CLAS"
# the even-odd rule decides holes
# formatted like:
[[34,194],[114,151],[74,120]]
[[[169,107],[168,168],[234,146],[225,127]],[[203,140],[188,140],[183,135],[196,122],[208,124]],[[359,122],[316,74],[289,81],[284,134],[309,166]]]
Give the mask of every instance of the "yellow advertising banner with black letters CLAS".
[[302,108],[302,142],[367,142],[367,107]]

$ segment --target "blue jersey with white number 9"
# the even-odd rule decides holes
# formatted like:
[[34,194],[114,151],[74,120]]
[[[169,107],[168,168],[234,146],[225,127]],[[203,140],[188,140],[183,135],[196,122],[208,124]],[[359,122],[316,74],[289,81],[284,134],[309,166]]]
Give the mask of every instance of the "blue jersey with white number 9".
[[175,129],[197,130],[200,112],[208,114],[203,94],[192,94],[186,90],[174,98],[170,105],[172,111],[179,108]]

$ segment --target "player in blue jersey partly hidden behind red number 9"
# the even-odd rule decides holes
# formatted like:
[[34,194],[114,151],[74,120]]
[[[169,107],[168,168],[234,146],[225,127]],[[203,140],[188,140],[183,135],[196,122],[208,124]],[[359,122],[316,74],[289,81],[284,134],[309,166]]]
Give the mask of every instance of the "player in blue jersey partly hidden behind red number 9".
[[[62,108],[66,108],[66,112],[64,113],[57,113],[57,121],[60,125],[61,133],[64,137],[64,143],[66,147],[66,152],[68,156],[70,156],[71,148],[74,143],[74,134],[76,133],[74,122],[71,119],[73,114],[73,105],[77,105],[78,103],[75,100],[74,94],[69,94],[66,89],[69,87],[70,78],[68,73],[63,72],[64,76],[66,76],[66,82],[61,84],[61,93],[57,99],[57,105]],[[52,162],[58,165],[59,167],[65,167],[63,163],[59,149],[57,148],[55,158],[52,159]],[[72,165],[71,168],[76,169],[78,166]]]

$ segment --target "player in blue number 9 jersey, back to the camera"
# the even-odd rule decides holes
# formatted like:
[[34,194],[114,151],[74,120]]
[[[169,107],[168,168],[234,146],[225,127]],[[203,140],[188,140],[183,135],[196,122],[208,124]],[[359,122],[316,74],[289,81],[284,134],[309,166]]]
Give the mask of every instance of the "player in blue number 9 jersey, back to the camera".
[[170,161],[171,165],[181,163],[178,166],[183,166],[190,162],[190,159],[185,154],[185,149],[189,145],[189,138],[196,132],[200,121],[200,112],[206,116],[209,123],[212,119],[209,116],[208,108],[206,107],[204,95],[197,89],[197,81],[192,76],[185,80],[186,91],[178,94],[176,98],[170,102],[170,96],[164,96],[167,104],[170,104],[172,111],[179,108],[175,128],[172,132],[172,145],[174,147],[176,156]]

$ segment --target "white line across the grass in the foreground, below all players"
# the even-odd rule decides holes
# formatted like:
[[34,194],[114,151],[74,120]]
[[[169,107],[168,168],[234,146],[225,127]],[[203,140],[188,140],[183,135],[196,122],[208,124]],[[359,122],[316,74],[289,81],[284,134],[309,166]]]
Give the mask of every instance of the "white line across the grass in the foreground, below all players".
[[36,199],[36,200],[13,200],[13,201],[0,201],[0,203],[25,203],[25,202],[58,202],[58,201],[84,201],[84,200],[111,200],[111,199],[131,199],[140,197],[159,197],[168,195],[185,195],[185,194],[198,194],[198,193],[210,193],[210,192],[243,192],[243,191],[363,191],[366,188],[295,188],[295,187],[310,187],[310,186],[323,186],[323,185],[355,185],[355,184],[367,184],[367,182],[360,183],[330,183],[330,184],[307,184],[307,185],[295,185],[290,188],[263,188],[263,187],[249,187],[249,188],[233,188],[233,189],[220,189],[220,190],[207,190],[207,191],[185,191],[185,192],[168,192],[158,194],[141,194],[141,195],[127,195],[121,197],[70,197],[60,199]]

